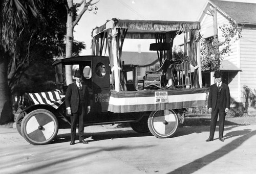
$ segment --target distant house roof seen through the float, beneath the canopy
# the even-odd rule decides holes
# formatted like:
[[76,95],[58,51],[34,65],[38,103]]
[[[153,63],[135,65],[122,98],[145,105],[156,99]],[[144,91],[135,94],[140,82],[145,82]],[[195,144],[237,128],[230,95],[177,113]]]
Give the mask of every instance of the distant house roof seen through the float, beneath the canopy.
[[158,61],[158,56],[156,52],[122,52],[121,59],[124,61],[124,64],[149,66]]

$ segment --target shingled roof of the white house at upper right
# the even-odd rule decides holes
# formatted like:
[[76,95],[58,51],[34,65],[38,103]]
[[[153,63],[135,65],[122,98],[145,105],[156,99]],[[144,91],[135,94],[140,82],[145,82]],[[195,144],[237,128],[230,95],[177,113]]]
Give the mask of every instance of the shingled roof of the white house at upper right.
[[237,23],[256,24],[256,4],[229,1],[210,0],[222,13],[234,19]]

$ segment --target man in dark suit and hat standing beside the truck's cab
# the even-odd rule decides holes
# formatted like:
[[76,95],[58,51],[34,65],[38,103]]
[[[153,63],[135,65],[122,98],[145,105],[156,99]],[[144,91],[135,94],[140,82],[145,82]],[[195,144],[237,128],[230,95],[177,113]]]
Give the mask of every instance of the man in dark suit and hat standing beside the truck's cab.
[[76,136],[76,122],[79,121],[78,135],[79,142],[87,144],[83,139],[83,117],[86,113],[90,112],[90,96],[88,87],[82,84],[82,73],[80,69],[75,71],[76,81],[68,86],[65,103],[68,115],[71,115],[71,142],[70,145],[75,144]]

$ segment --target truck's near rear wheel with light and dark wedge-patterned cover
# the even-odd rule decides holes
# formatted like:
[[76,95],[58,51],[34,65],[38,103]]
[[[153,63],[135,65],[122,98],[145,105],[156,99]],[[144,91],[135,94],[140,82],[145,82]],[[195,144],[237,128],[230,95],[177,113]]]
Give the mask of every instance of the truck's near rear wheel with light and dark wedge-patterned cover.
[[170,138],[178,129],[179,118],[173,110],[152,111],[147,123],[150,132],[157,138]]

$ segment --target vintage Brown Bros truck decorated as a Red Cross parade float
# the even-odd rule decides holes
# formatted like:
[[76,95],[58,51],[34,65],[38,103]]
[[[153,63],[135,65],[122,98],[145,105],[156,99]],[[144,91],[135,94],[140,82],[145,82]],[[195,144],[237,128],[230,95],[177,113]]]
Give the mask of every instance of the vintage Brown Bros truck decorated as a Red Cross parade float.
[[[146,24],[147,28],[141,28]],[[53,62],[56,69],[55,91],[23,96],[20,101],[23,110],[16,118],[17,131],[31,144],[47,144],[55,138],[58,129],[70,128],[70,117],[66,116],[65,106],[65,66],[73,65],[82,70],[83,82],[89,86],[91,93],[91,112],[84,117],[84,126],[130,122],[136,132],[151,132],[158,138],[172,137],[185,119],[186,108],[205,106],[206,89],[199,86],[200,69],[195,68],[192,81],[188,77],[188,69],[180,69],[182,64],[175,65],[175,61],[169,57],[171,47],[160,47],[157,51],[162,55],[159,56],[161,67],[156,71],[145,72],[141,89],[138,87],[137,66],[121,63],[121,47],[125,35],[128,38],[154,38],[161,35],[170,38],[166,44],[170,46],[174,35],[190,32],[193,47],[190,47],[189,53],[192,54],[189,55],[193,59],[189,62],[198,66],[195,45],[198,45],[196,34],[199,29],[198,22],[108,21],[93,30],[93,56],[71,57]],[[127,83],[127,71],[133,72],[130,84]],[[185,80],[176,84],[177,80],[173,78],[177,76]]]

